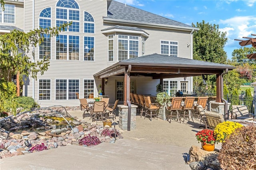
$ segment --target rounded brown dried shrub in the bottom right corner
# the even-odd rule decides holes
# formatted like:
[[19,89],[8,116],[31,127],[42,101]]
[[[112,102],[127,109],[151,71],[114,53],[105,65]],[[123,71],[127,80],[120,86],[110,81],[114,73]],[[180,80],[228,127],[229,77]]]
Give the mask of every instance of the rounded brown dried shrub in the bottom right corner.
[[222,144],[218,160],[223,170],[256,169],[256,126],[237,128]]

